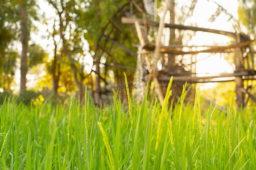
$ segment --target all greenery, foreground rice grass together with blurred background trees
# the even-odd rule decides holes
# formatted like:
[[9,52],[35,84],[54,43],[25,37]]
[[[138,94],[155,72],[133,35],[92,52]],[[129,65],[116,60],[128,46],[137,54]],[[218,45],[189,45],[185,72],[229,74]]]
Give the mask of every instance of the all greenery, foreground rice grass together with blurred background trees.
[[[174,13],[175,1],[171,2]],[[142,103],[132,100],[130,82],[134,80],[135,70],[131,67],[137,65],[137,58],[127,54],[137,52],[137,33],[134,27],[115,25],[119,22],[117,18],[109,20],[125,3],[117,0],[0,1],[0,168],[256,169],[256,107],[251,104],[250,108],[238,111],[231,95],[233,84],[205,92],[214,94],[212,99],[224,109],[215,104],[205,107],[199,90],[192,104],[184,102],[187,84],[175,103],[170,100],[172,79],[163,103],[153,97],[153,86],[147,87],[152,92],[145,92]],[[42,4],[44,9],[40,9]],[[156,1],[155,5],[156,19],[162,13],[163,4]],[[240,22],[251,35],[255,35],[256,25],[256,15],[250,17],[256,13],[253,5],[252,0],[247,3],[241,0],[238,11]],[[44,12],[51,10],[47,18]],[[122,11],[127,13],[125,10]],[[131,13],[133,10],[136,9],[130,8]],[[176,23],[183,23],[189,13],[172,15],[170,22],[174,22],[176,16]],[[112,22],[112,26],[105,28],[108,22]],[[109,36],[102,36],[102,29]],[[156,36],[155,31],[150,31],[152,37]],[[191,39],[182,32],[175,35],[171,31],[170,44],[174,44],[172,41],[177,35]],[[106,52],[95,57],[101,36],[106,48],[112,48],[106,44],[112,39],[131,51],[114,46],[111,57]],[[176,45],[181,42],[179,38]],[[176,69],[168,65],[175,57],[165,57],[168,62],[162,66]],[[109,64],[131,70],[123,76],[121,67]],[[27,80],[31,73],[38,81],[32,86]],[[39,73],[44,74],[42,78],[38,78]],[[20,74],[19,82],[17,74]],[[97,89],[103,85],[100,79],[105,87],[108,85],[102,92]],[[109,87],[120,82],[126,84],[122,86],[126,88],[113,90],[110,105],[101,105],[101,108],[94,105],[100,102],[95,100],[95,94],[107,94]],[[220,100],[217,92],[225,99]],[[90,93],[94,93],[97,102],[93,102]],[[255,93],[252,90],[252,94]],[[74,95],[69,97],[71,94]]]

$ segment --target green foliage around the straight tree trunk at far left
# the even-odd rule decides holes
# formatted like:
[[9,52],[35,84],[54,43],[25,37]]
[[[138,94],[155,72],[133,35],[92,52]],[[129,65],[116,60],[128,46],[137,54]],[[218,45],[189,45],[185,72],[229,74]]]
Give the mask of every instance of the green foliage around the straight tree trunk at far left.
[[[27,9],[28,33],[33,27],[32,21],[39,20],[38,7],[34,0],[5,0],[0,1],[0,87],[10,89],[10,84],[13,83],[14,74],[16,70],[16,59],[19,57],[16,48],[16,41],[20,39],[22,31],[20,31],[20,6],[22,3]],[[42,18],[42,17],[41,17]],[[35,31],[35,29],[33,29]],[[37,48],[36,48],[37,47]],[[36,48],[36,49],[35,49]],[[29,58],[31,66],[42,62],[42,52],[39,46],[31,46],[28,50],[31,54]],[[5,79],[5,80],[3,80]],[[7,82],[7,83],[6,83]]]

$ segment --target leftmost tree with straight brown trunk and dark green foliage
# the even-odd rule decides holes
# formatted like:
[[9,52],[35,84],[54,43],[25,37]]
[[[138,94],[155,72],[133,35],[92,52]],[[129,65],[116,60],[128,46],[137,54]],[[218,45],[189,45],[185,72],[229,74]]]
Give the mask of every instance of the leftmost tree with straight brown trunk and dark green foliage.
[[15,74],[18,50],[14,42],[16,43],[18,40],[22,43],[20,89],[21,91],[26,90],[27,54],[30,53],[28,49],[29,33],[32,19],[38,19],[35,7],[35,1],[32,0],[6,0],[0,2],[0,82],[1,86],[8,91],[10,91],[10,84]]

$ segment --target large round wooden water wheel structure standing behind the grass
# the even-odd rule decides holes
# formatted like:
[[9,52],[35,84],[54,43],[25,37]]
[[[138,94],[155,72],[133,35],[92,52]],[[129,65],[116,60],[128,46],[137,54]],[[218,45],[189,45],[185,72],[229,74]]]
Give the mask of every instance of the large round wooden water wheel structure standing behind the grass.
[[[189,12],[193,11],[195,4],[196,1],[192,0]],[[255,97],[250,93],[252,82],[256,78],[254,53],[250,48],[250,44],[253,42],[253,40],[250,40],[249,36],[241,32],[239,24],[237,24],[232,15],[228,14],[228,12],[217,3],[216,5],[218,6],[217,10],[219,12],[222,11],[226,15],[230,16],[230,20],[233,21],[233,27],[236,29],[236,32],[193,27],[175,23],[164,24],[164,27],[177,29],[179,31],[201,31],[224,35],[232,37],[235,40],[233,44],[228,46],[188,46],[183,44],[170,44],[167,46],[160,45],[160,56],[158,58],[155,58],[154,56],[154,51],[157,46],[155,42],[157,40],[155,40],[154,37],[150,37],[149,32],[152,31],[152,29],[158,28],[161,23],[155,20],[150,20],[146,17],[146,12],[142,10],[142,1],[135,2],[132,0],[119,8],[119,10],[113,15],[113,18],[109,20],[108,24],[106,24],[106,27],[102,30],[102,34],[96,45],[96,54],[94,56],[94,65],[96,66],[96,70],[94,70],[94,72],[97,74],[95,83],[96,90],[94,91],[94,100],[96,104],[99,103],[103,92],[100,87],[100,80],[102,79],[100,76],[101,55],[102,53],[105,53],[107,56],[112,56],[111,51],[114,45],[119,46],[119,48],[125,50],[127,54],[130,54],[131,57],[137,57],[137,73],[135,75],[134,84],[137,88],[137,96],[139,97],[143,96],[146,89],[146,82],[148,80],[154,80],[156,86],[159,85],[159,82],[159,86],[164,87],[163,84],[168,82],[171,76],[174,76],[175,84],[180,84],[180,87],[184,82],[208,83],[234,81],[236,82],[236,101],[238,107],[245,105],[249,97],[251,97],[251,99],[256,102]],[[210,20],[214,20],[217,15],[219,15],[218,12],[213,14]],[[115,40],[115,37],[117,37],[119,33],[122,33],[123,25],[127,24],[133,25],[137,32],[139,44],[134,45],[138,49],[137,54],[134,53],[133,50],[126,48],[124,45]],[[110,29],[108,34],[106,34],[106,28],[108,27],[112,27],[112,29]],[[149,38],[153,40],[148,40]],[[112,44],[111,48],[109,49],[106,48],[106,44],[108,43]],[[200,50],[197,50],[198,48],[200,48]],[[210,55],[216,53],[234,53],[234,65],[236,66],[236,70],[234,73],[230,74],[199,77],[196,73],[196,55],[199,53],[209,53]],[[165,63],[166,56],[168,56],[167,63]],[[162,63],[162,70],[156,69],[158,62]],[[119,67],[121,69],[135,69],[135,67],[120,66],[115,65],[115,63],[104,63],[104,65],[109,67]],[[155,73],[154,70],[157,70],[157,73]],[[106,80],[104,81],[106,82]],[[177,97],[179,97],[178,91],[180,90],[174,89],[174,95]]]

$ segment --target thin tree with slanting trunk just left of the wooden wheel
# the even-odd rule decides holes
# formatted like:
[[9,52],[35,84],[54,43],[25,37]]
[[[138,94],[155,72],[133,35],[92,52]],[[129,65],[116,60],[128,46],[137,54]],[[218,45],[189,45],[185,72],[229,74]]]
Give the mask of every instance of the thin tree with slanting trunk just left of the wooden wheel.
[[80,3],[82,1],[51,1],[47,0],[50,5],[55,8],[57,16],[59,16],[60,37],[63,44],[65,55],[69,59],[73,78],[76,86],[79,88],[80,103],[84,101],[84,80],[86,74],[85,57],[86,52],[84,49],[85,40],[84,29],[79,24],[82,21],[82,10]]

